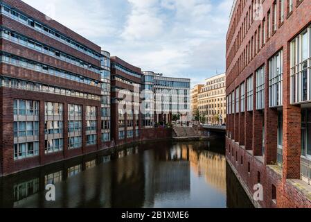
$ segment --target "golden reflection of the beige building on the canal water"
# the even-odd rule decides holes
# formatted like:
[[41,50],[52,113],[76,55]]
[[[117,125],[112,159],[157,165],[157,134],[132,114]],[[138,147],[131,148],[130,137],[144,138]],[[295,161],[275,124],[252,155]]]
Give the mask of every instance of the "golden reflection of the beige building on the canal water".
[[226,193],[226,158],[211,151],[195,149],[190,145],[190,166],[199,176],[204,176],[208,185]]

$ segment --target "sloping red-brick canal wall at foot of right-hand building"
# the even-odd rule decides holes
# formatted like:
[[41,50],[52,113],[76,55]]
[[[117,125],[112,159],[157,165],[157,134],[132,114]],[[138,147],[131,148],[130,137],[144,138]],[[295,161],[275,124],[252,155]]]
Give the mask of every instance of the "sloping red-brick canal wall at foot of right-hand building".
[[[252,152],[226,137],[226,160],[255,207],[311,207],[310,185],[302,180],[283,180],[281,167],[265,165],[263,158]],[[258,183],[263,186],[263,200],[255,201],[254,185]]]

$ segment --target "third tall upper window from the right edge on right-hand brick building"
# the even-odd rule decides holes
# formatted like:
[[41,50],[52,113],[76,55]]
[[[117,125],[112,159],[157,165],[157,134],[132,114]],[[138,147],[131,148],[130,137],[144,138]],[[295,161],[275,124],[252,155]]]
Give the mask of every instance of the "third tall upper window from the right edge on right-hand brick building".
[[265,66],[256,71],[256,110],[265,108]]

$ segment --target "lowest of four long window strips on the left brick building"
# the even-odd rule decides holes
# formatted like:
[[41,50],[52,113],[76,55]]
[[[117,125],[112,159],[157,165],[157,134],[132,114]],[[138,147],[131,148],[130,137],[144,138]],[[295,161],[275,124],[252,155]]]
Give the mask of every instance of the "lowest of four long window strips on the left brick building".
[[7,77],[0,77],[0,87],[11,87],[15,89],[24,89],[30,90],[35,92],[44,92],[49,94],[58,94],[63,96],[73,96],[77,98],[83,99],[91,99],[100,101],[100,96],[94,94],[87,94],[84,92],[78,92],[71,89],[64,89],[60,87],[54,87],[51,85],[44,85],[41,83],[34,83],[31,81],[20,80],[17,78],[7,78]]

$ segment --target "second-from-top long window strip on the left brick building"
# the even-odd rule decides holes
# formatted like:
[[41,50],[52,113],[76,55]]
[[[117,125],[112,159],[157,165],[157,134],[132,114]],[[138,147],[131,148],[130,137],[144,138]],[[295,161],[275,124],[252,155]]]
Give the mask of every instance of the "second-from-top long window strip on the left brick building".
[[50,46],[47,46],[46,44],[39,43],[35,40],[31,40],[28,37],[24,37],[24,35],[8,31],[5,28],[1,28],[1,34],[0,37],[5,38],[6,40],[10,40],[12,42],[15,42],[17,44],[21,44],[22,46],[26,46],[30,49],[35,49],[36,51],[40,51],[48,56],[53,56],[57,59],[64,60],[66,62],[69,62],[73,65],[77,65],[79,67],[88,69],[89,71],[94,71],[98,74],[100,74],[100,68],[91,65],[88,62],[84,62],[78,58],[74,58],[73,56],[69,56],[69,54],[62,53],[60,51],[57,51],[56,49],[53,49]]

